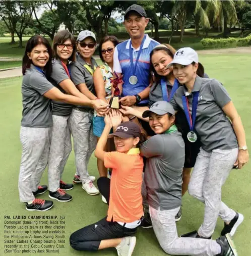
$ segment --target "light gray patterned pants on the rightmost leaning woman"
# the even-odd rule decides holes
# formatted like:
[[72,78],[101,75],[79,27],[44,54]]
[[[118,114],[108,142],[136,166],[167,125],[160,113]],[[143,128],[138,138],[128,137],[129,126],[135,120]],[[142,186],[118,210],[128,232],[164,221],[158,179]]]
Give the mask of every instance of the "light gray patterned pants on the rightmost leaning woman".
[[202,237],[210,237],[215,229],[218,216],[231,221],[235,212],[221,201],[221,187],[225,183],[238,156],[238,148],[215,149],[198,154],[189,183],[189,193],[205,203],[204,221],[198,230]]

